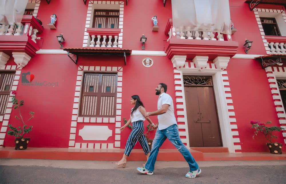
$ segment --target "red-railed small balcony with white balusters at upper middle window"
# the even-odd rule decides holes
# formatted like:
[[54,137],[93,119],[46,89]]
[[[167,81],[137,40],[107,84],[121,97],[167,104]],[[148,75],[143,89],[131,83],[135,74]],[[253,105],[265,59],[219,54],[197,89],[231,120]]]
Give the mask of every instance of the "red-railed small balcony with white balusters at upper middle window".
[[121,29],[87,28],[90,36],[89,47],[118,47]]

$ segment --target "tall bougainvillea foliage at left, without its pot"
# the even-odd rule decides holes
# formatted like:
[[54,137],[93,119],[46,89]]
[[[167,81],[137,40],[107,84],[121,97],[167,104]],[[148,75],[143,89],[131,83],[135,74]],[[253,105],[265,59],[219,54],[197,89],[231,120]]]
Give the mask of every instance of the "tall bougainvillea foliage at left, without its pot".
[[26,125],[27,121],[29,121],[30,119],[32,119],[34,117],[34,112],[30,111],[30,115],[31,117],[25,122],[23,120],[23,117],[21,115],[21,111],[20,111],[20,108],[21,106],[24,105],[24,101],[21,100],[21,101],[18,101],[18,99],[16,98],[16,91],[12,91],[12,94],[14,95],[12,97],[12,103],[13,103],[13,109],[18,109],[19,110],[19,116],[15,116],[16,119],[18,119],[19,121],[21,121],[21,123],[23,123],[23,127],[13,127],[11,124],[8,125],[8,127],[11,129],[9,131],[7,131],[8,135],[13,135],[15,136],[16,138],[19,137],[19,138],[23,138],[24,134],[25,133],[29,133],[30,131],[32,131],[32,127],[33,126],[30,126],[29,128],[27,128],[28,125]]

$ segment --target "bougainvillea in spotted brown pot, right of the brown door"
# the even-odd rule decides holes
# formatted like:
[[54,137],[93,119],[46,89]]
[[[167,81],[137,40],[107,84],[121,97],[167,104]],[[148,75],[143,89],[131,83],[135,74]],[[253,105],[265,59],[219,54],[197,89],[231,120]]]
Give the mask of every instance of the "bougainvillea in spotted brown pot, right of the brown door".
[[284,130],[281,127],[273,126],[273,127],[266,127],[265,125],[270,124],[271,121],[268,121],[266,124],[262,123],[260,121],[251,121],[251,128],[254,128],[254,135],[252,138],[254,139],[254,136],[257,135],[259,132],[263,133],[265,135],[265,138],[270,142],[266,143],[267,147],[269,148],[270,153],[273,154],[282,154],[282,143],[272,143],[271,139],[277,138],[277,136],[272,135],[273,131],[281,131]]

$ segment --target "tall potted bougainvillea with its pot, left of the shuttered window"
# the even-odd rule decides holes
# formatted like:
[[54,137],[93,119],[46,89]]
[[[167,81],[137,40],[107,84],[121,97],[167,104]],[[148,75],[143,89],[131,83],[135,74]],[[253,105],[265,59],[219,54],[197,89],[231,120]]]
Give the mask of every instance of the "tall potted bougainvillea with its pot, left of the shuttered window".
[[21,111],[20,111],[20,107],[24,105],[24,101],[18,101],[18,99],[16,98],[16,91],[12,91],[12,94],[14,95],[12,97],[12,103],[13,103],[13,109],[18,109],[19,110],[19,116],[15,116],[16,119],[18,119],[19,121],[21,121],[21,123],[23,123],[23,127],[13,127],[11,124],[8,125],[8,127],[11,129],[9,130],[7,133],[8,135],[13,135],[15,136],[15,149],[27,149],[27,145],[30,141],[30,138],[23,138],[23,136],[26,133],[29,133],[30,131],[32,131],[32,126],[30,126],[29,128],[27,128],[27,121],[29,121],[30,119],[32,119],[34,117],[34,112],[30,111],[30,115],[31,117],[25,122],[23,120],[23,117],[21,115]]

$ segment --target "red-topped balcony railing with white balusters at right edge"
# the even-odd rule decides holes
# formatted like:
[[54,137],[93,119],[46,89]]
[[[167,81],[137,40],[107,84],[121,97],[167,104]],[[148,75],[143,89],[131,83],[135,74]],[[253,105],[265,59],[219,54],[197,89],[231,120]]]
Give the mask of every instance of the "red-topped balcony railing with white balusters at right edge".
[[265,36],[269,51],[272,54],[285,54],[286,53],[286,37],[283,36]]

